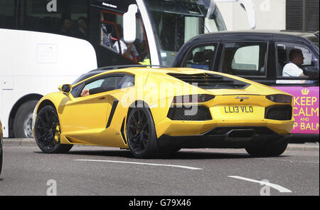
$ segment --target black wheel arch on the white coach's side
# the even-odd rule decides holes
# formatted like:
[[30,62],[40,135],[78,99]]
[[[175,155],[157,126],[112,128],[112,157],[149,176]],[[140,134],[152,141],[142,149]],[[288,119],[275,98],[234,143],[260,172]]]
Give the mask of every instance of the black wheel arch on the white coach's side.
[[43,95],[32,93],[24,95],[22,98],[19,98],[19,100],[16,101],[9,114],[9,137],[14,137],[14,117],[16,117],[18,108],[21,107],[23,103],[31,100],[40,100],[42,97]]

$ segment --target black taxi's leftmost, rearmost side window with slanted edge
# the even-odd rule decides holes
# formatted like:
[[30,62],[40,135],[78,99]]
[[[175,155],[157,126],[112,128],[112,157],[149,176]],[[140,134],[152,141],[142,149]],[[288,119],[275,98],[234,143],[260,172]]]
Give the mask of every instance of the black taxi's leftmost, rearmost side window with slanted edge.
[[208,46],[198,46],[190,51],[183,61],[182,67],[200,68],[204,70],[211,70],[213,59],[215,58],[217,44],[210,44]]

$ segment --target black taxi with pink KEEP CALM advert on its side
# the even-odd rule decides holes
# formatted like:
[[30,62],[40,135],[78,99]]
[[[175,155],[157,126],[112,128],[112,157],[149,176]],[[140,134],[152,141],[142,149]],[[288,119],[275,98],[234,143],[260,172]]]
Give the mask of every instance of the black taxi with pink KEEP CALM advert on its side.
[[[283,76],[290,52],[304,56],[302,76]],[[294,136],[319,141],[319,31],[220,31],[195,36],[178,51],[173,67],[237,75],[294,95]],[[306,76],[305,76],[306,75]],[[313,100],[305,103],[305,100]]]

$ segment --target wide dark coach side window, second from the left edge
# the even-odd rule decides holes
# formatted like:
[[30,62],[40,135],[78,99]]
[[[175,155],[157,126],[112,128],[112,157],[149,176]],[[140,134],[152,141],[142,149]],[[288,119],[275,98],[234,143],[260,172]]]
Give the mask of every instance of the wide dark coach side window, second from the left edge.
[[48,11],[48,1],[22,2],[19,29],[87,39],[87,0],[57,0],[56,11]]

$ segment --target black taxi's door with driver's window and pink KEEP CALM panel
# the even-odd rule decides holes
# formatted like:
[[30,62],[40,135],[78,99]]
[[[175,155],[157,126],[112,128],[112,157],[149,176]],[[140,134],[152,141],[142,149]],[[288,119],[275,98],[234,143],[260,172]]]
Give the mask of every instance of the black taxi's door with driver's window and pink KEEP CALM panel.
[[[293,116],[294,127],[292,134],[318,135],[319,137],[319,54],[312,51],[311,46],[302,41],[291,41],[279,38],[274,42],[277,63],[277,83],[273,88],[283,90],[294,96]],[[292,51],[301,51],[304,57],[298,68],[305,70],[313,68],[318,71],[314,75],[291,76],[284,75],[284,66],[290,61]],[[306,73],[304,71],[304,73]]]

